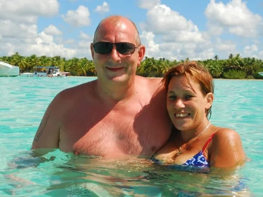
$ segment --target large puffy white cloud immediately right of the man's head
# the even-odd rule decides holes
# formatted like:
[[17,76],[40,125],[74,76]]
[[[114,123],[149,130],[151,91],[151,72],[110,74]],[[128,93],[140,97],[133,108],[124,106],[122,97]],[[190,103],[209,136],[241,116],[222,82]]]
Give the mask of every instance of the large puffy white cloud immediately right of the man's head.
[[209,34],[199,32],[191,20],[164,4],[155,5],[148,10],[141,28],[142,43],[146,45],[148,57],[200,60],[214,55]]

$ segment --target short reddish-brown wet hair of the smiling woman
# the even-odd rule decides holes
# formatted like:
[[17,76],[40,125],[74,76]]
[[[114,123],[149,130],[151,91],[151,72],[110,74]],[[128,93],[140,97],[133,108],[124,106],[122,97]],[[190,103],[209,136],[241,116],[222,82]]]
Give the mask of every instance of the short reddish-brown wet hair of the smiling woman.
[[[201,87],[201,92],[203,95],[206,95],[208,93],[214,94],[214,82],[213,77],[209,73],[209,71],[206,69],[206,67],[202,66],[201,64],[197,62],[185,62],[178,64],[176,66],[173,66],[170,68],[165,74],[164,78],[162,79],[162,83],[164,86],[164,90],[168,91],[168,86],[170,83],[170,80],[172,77],[176,76],[182,76],[185,75],[187,82],[189,83],[192,90],[195,92],[194,88],[192,87],[190,80],[193,80],[194,82],[197,82]],[[211,108],[206,109],[205,114],[206,118],[210,119],[211,117]],[[209,118],[208,118],[209,115]]]

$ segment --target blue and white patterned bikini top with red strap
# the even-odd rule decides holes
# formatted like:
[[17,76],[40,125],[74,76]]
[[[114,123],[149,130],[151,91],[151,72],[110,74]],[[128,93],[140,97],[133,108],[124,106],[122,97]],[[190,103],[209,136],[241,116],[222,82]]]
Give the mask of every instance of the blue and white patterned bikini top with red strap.
[[[203,155],[203,151],[205,150],[206,146],[209,144],[209,142],[212,140],[214,137],[215,133],[213,133],[209,139],[205,142],[202,150],[200,150],[194,157],[190,158],[187,160],[183,165],[194,165],[194,166],[199,166],[199,167],[209,167],[208,161],[205,159]],[[158,164],[161,164],[161,162],[154,157],[152,157],[152,161]]]

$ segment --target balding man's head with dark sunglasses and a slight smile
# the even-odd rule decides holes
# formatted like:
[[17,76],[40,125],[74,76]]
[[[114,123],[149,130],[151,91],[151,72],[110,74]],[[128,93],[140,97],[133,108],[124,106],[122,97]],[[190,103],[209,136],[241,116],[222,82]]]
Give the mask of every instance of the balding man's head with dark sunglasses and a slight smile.
[[99,23],[91,52],[99,79],[129,81],[143,59],[145,47],[131,20],[110,16]]

